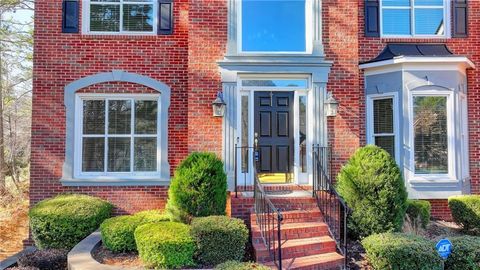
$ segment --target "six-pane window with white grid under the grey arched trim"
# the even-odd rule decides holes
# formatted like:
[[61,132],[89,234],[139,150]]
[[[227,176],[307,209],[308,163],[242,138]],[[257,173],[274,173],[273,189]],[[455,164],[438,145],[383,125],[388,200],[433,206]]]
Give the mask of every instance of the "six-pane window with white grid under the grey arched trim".
[[81,96],[76,176],[155,177],[159,174],[158,96]]

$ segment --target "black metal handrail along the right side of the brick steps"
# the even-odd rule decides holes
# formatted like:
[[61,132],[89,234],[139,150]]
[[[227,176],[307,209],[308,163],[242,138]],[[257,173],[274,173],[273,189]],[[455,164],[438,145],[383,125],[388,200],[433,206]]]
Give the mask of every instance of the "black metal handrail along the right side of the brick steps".
[[347,269],[347,217],[350,210],[331,181],[331,156],[329,147],[313,146],[313,196],[337,249],[345,258],[344,268]]

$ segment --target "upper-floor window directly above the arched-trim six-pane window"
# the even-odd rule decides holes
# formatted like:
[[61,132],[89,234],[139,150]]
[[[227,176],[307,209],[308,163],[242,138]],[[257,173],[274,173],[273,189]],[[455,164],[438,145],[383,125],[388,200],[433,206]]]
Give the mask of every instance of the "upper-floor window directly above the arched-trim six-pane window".
[[89,33],[154,34],[157,31],[155,0],[88,0],[84,25]]

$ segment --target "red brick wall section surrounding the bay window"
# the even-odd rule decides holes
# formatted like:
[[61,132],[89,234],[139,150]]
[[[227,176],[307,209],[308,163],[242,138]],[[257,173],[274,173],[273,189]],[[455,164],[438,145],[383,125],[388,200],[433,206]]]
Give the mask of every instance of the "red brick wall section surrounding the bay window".
[[[453,53],[467,56],[476,66],[480,64],[480,1],[468,1],[468,32],[467,38],[449,39],[387,39],[364,36],[364,1],[359,1],[358,9],[358,44],[359,61],[375,57],[387,42],[415,43],[446,43]],[[480,72],[479,69],[468,70],[468,117],[470,140],[470,175],[472,177],[472,193],[480,193]],[[363,89],[363,74],[358,77],[360,88]],[[362,90],[363,91],[363,90]],[[432,203],[432,216],[441,219],[451,219],[447,200],[429,200]]]

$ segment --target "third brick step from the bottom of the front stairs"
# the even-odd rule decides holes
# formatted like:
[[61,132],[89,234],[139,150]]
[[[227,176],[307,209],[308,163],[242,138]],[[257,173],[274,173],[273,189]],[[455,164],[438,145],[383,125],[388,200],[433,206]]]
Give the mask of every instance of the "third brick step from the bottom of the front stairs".
[[[261,243],[260,227],[256,224],[252,225],[252,242]],[[280,227],[282,232],[282,239],[300,239],[329,235],[328,226],[324,222],[301,222],[301,223],[286,223]],[[277,228],[274,233],[276,235]]]

